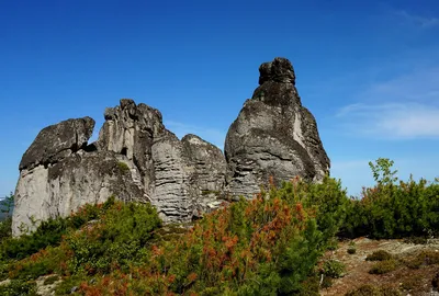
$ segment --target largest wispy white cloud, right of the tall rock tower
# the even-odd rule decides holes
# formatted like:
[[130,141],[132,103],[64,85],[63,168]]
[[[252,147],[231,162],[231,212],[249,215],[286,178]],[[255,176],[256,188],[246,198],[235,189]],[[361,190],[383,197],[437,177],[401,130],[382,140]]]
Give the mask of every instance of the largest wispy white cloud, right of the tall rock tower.
[[351,134],[385,139],[439,138],[439,67],[371,83],[336,119]]

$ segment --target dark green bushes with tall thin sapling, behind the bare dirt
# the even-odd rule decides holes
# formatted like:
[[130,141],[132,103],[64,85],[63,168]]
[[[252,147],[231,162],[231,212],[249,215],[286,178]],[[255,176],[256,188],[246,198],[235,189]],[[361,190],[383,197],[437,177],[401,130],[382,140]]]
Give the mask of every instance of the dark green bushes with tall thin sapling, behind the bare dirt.
[[376,185],[364,189],[361,200],[347,205],[347,217],[340,234],[347,237],[403,238],[431,236],[439,229],[439,184],[396,183],[387,159],[370,163]]

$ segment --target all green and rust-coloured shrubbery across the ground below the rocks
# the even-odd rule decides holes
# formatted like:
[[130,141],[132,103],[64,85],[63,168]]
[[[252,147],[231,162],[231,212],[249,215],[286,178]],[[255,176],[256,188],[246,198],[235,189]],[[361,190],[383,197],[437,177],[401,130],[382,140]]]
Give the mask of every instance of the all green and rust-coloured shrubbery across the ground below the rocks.
[[[312,184],[297,178],[191,227],[162,226],[151,205],[114,197],[20,238],[11,238],[7,219],[0,224],[0,281],[12,281],[0,295],[33,295],[42,275],[52,275],[47,283],[61,280],[57,295],[74,287],[77,295],[318,295],[346,272],[340,262],[323,260],[337,237],[410,238],[439,229],[439,184],[398,182],[392,164],[370,163],[376,185],[361,200],[348,198],[335,179]],[[353,241],[348,252],[356,253]],[[425,251],[398,262],[378,251],[367,260],[379,261],[371,273],[382,274],[399,263],[437,264],[439,255]],[[349,295],[394,293],[363,286]]]

